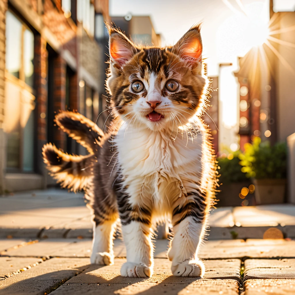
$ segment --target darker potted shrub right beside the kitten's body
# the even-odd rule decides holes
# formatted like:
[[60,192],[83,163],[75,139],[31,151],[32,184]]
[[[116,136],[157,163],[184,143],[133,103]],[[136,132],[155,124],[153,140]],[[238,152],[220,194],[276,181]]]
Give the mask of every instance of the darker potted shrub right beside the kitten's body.
[[[250,185],[250,180],[241,171],[238,158],[241,151],[230,153],[227,157],[217,158],[219,168],[219,192],[216,198],[219,199],[218,206],[240,206],[242,199],[239,194],[243,187]],[[225,154],[224,154],[225,155]]]

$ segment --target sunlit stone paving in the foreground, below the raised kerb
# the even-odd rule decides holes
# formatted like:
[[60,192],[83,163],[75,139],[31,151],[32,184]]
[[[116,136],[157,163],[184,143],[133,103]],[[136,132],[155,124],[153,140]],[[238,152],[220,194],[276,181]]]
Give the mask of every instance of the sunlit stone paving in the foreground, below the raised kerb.
[[[68,244],[65,244],[68,243]],[[294,294],[295,241],[219,240],[200,251],[204,278],[172,276],[167,240],[155,242],[151,278],[123,278],[122,241],[115,240],[115,265],[89,264],[91,240],[0,240],[0,294]]]

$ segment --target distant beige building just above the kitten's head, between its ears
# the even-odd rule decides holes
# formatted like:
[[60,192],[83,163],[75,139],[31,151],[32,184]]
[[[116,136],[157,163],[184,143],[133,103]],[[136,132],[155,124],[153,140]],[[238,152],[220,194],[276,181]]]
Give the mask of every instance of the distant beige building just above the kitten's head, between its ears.
[[127,14],[112,17],[112,22],[137,44],[161,46],[161,36],[156,34],[149,16]]

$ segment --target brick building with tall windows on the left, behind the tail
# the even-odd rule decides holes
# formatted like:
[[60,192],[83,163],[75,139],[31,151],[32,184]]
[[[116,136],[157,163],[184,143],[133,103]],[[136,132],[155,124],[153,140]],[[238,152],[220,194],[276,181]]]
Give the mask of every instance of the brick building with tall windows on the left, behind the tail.
[[105,109],[108,0],[1,0],[0,192],[50,181],[41,149],[54,142],[85,153],[56,126],[54,113]]

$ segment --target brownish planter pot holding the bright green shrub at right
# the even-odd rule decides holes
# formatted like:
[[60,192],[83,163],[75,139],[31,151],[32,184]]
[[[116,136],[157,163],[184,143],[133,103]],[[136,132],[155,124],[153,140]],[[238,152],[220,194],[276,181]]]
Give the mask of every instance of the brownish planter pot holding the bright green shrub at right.
[[286,179],[253,179],[253,183],[257,205],[284,203]]

